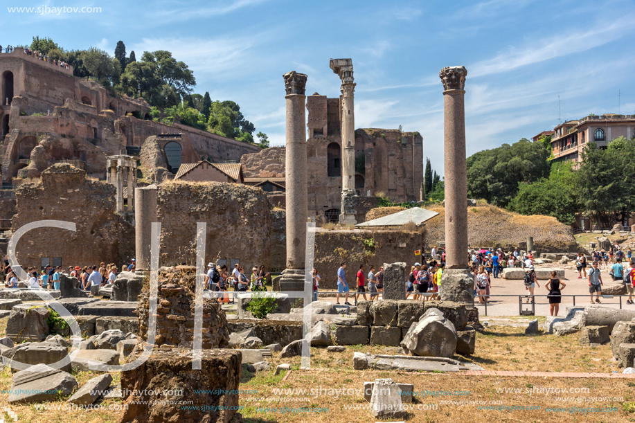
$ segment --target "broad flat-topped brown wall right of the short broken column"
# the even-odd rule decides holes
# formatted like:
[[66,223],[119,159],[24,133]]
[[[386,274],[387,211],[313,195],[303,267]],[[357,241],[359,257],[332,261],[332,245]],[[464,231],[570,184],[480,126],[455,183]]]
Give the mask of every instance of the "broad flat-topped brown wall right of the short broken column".
[[[271,266],[271,204],[260,188],[224,182],[166,181],[157,192],[161,260],[196,257],[196,224],[207,223],[205,262],[240,260],[246,271]],[[283,264],[284,266],[284,264]]]

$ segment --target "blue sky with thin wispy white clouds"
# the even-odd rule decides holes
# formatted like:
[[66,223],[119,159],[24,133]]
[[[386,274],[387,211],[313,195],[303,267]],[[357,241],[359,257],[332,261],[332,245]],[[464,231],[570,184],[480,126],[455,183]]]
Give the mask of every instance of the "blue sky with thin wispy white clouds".
[[419,131],[443,168],[443,66],[467,67],[467,154],[529,138],[588,114],[635,114],[635,3],[615,1],[3,1],[6,7],[93,7],[100,13],[8,13],[0,44],[51,37],[66,49],[123,40],[172,51],[195,92],[234,100],[272,145],[285,139],[282,75],[307,94],[339,96],[331,57],[355,66],[355,126]]

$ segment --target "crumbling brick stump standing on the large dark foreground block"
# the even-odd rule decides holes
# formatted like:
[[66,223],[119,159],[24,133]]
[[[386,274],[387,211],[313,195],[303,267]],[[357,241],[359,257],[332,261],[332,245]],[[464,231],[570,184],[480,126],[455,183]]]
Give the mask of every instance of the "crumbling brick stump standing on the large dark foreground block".
[[[159,271],[155,345],[192,348],[194,342],[196,267],[177,266]],[[144,280],[137,309],[139,332],[147,341],[150,282]],[[203,299],[203,348],[225,348],[229,343],[227,318],[220,303]]]

